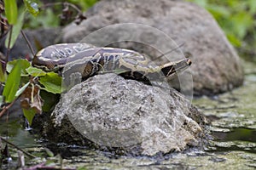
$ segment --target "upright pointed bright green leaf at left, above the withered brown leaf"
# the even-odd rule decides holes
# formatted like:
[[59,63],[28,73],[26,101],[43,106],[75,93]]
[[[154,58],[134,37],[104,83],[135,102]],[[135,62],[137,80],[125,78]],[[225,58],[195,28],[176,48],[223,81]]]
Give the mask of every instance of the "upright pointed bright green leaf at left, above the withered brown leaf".
[[9,77],[3,88],[3,96],[5,97],[5,102],[10,103],[15,99],[15,94],[19,89],[20,85],[20,74],[21,74],[21,61],[18,60],[12,71],[9,73]]

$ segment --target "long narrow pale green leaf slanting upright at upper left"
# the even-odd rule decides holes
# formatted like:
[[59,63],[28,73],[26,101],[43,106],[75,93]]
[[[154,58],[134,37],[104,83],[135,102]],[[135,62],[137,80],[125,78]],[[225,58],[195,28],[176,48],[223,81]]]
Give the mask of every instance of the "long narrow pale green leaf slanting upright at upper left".
[[23,26],[23,20],[24,20],[24,13],[20,14],[19,20],[17,21],[17,23],[13,26],[13,29],[11,30],[12,32],[8,32],[7,34],[7,38],[5,39],[5,47],[8,48],[8,44],[9,44],[9,36],[11,35],[11,41],[9,44],[9,48],[13,48],[15,45],[15,42],[17,40],[17,38],[19,37],[20,34],[20,30]]

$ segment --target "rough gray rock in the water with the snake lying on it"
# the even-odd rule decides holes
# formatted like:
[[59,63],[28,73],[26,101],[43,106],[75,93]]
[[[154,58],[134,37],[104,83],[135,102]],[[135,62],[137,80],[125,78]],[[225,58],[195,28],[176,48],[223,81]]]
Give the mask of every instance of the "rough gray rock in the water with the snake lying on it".
[[45,133],[51,141],[153,156],[198,146],[206,119],[173,88],[90,77],[63,94]]

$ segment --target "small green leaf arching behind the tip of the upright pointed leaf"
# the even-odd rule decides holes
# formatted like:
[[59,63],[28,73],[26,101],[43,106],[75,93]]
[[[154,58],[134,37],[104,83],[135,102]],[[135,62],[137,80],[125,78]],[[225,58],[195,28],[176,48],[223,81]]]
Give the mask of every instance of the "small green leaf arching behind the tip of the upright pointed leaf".
[[21,70],[21,77],[27,77],[28,76],[28,73],[26,71],[26,69],[30,66],[30,62],[26,59],[15,59],[15,60],[12,60],[12,61],[9,61],[7,63],[7,66],[6,66],[6,71],[10,72],[12,71],[14,65],[17,63],[17,62],[20,62],[20,70]]

